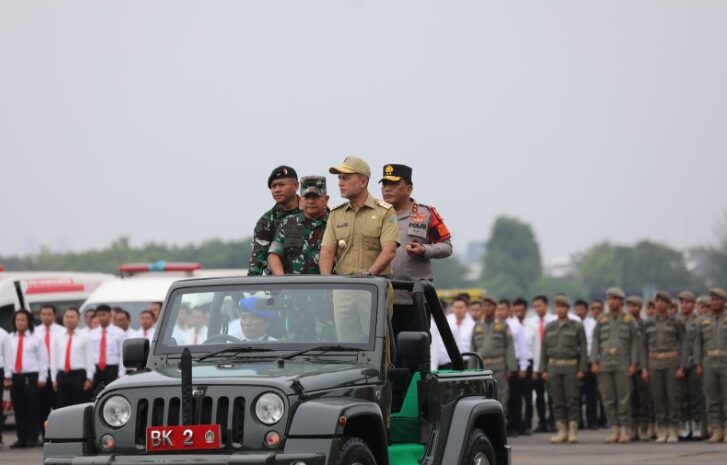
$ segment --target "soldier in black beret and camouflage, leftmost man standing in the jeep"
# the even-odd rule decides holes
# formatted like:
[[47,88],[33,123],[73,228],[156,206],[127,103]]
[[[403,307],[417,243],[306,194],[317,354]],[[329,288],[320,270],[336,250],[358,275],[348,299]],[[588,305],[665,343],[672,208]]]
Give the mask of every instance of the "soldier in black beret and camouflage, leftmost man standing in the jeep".
[[[268,248],[273,241],[280,220],[300,213],[298,198],[298,173],[290,166],[278,166],[268,177],[268,189],[273,194],[275,206],[265,212],[255,224],[252,253],[247,267],[248,276],[259,276],[268,271]],[[159,314],[157,313],[157,318]]]

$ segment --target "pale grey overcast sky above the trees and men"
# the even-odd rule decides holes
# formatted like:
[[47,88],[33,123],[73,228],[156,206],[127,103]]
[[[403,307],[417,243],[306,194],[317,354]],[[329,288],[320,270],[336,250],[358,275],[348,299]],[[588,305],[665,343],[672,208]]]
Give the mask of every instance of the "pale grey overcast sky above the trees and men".
[[[727,2],[0,1],[0,255],[252,233],[270,171],[413,167],[455,254],[709,244]],[[328,175],[331,205],[341,199]]]

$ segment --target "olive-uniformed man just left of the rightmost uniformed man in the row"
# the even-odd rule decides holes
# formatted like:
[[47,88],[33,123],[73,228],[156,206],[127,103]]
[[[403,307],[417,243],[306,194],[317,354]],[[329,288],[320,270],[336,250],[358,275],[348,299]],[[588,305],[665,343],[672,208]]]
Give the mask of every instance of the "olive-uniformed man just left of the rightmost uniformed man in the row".
[[687,439],[702,439],[702,425],[705,420],[704,393],[702,380],[694,372],[694,339],[696,338],[697,314],[694,312],[695,296],[691,291],[682,291],[677,296],[681,319],[684,322],[686,335],[684,350],[687,363],[684,366],[684,379],[677,383],[678,403],[681,405],[681,429],[679,437]]

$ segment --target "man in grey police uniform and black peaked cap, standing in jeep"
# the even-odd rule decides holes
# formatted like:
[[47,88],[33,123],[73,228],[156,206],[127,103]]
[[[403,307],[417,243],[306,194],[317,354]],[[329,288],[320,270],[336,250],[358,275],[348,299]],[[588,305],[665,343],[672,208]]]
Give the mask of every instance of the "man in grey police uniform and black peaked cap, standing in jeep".
[[[434,207],[417,203],[411,193],[412,169],[406,165],[388,164],[379,181],[384,201],[396,210],[399,224],[399,243],[394,261],[391,263],[394,279],[416,281],[433,280],[433,258],[447,258],[452,255],[451,234]],[[405,291],[396,291],[394,303],[397,314],[392,319],[394,332],[416,331],[412,319],[407,317],[406,306],[412,305],[411,296]]]

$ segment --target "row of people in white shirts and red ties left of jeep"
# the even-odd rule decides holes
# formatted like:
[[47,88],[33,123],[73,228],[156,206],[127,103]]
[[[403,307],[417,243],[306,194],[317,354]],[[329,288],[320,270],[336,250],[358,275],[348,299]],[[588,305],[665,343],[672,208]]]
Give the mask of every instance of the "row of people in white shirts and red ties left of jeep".
[[[43,306],[39,316],[36,326],[28,310],[19,310],[12,332],[0,329],[0,397],[10,390],[17,432],[12,448],[40,446],[51,410],[87,402],[99,386],[123,376],[123,341],[151,340],[154,333],[151,309],[142,312],[138,332],[128,327],[128,312],[116,309],[112,319],[108,305],[84,312],[85,327],[79,327],[81,315],[74,307],[64,310],[62,325],[52,305]],[[0,433],[3,423],[0,418]]]

